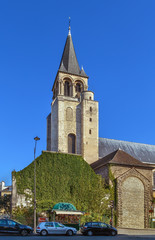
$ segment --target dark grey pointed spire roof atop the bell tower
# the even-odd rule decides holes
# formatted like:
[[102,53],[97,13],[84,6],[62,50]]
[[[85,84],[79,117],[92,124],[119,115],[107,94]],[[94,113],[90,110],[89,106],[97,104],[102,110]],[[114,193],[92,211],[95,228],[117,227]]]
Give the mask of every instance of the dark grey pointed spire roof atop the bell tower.
[[79,75],[82,77],[88,77],[83,68],[80,69],[79,67],[70,30],[66,39],[59,71]]

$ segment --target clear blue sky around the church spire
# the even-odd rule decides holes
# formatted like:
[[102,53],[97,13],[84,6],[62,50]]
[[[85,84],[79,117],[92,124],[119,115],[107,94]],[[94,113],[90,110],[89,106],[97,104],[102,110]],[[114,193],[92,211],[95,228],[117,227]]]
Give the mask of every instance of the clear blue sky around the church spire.
[[99,136],[155,144],[154,0],[0,1],[0,181],[46,150],[52,84],[71,17],[99,101]]

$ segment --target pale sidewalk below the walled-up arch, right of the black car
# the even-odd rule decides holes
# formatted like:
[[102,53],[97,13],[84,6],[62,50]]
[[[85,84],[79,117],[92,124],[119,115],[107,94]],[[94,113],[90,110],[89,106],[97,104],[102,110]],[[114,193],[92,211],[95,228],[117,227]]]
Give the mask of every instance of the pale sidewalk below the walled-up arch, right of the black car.
[[125,235],[155,235],[154,228],[134,229],[134,228],[117,228],[118,234]]

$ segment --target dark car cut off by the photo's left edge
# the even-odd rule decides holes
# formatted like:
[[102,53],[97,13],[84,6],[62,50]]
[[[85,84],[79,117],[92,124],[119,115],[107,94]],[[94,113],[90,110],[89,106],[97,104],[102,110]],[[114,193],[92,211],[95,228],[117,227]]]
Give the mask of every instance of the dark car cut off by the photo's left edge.
[[27,236],[33,232],[33,228],[23,225],[21,223],[15,222],[11,219],[0,219],[0,233],[13,233],[21,234],[22,236]]

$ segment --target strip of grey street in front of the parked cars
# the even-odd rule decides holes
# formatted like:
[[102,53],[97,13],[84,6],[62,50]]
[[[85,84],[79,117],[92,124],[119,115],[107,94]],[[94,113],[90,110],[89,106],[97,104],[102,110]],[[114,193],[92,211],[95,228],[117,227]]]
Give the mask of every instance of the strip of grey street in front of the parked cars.
[[76,235],[76,236],[4,236],[0,235],[0,240],[154,240],[155,235],[124,235],[124,234],[118,234],[115,237],[111,236],[82,236],[82,235]]

